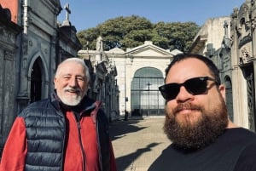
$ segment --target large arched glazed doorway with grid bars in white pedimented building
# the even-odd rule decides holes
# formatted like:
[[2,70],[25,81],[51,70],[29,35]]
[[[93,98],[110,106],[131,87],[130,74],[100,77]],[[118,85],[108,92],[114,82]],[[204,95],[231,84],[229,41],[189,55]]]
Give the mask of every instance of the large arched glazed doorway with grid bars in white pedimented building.
[[131,115],[164,115],[164,100],[158,87],[164,83],[162,72],[153,67],[137,70],[131,81]]

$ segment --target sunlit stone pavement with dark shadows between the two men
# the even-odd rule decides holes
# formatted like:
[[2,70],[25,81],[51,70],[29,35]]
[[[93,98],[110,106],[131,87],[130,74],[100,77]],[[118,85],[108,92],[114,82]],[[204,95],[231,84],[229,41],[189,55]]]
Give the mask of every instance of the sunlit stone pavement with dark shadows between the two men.
[[113,151],[119,171],[147,171],[170,144],[163,133],[164,117],[130,118],[110,124]]

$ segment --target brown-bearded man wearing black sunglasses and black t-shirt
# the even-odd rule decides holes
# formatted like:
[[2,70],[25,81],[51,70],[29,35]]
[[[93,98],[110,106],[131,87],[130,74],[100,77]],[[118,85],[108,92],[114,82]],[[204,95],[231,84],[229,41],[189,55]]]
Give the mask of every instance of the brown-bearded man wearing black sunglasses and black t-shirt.
[[177,54],[160,92],[166,99],[164,131],[172,140],[149,171],[256,170],[256,135],[232,123],[225,88],[212,60]]

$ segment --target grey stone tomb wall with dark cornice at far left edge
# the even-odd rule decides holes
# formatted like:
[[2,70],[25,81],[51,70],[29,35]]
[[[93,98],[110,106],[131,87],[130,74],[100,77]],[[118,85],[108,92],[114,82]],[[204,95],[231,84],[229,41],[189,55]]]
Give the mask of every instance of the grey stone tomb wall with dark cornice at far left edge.
[[11,21],[9,9],[0,4],[0,157],[9,129],[15,120],[16,38],[21,27]]

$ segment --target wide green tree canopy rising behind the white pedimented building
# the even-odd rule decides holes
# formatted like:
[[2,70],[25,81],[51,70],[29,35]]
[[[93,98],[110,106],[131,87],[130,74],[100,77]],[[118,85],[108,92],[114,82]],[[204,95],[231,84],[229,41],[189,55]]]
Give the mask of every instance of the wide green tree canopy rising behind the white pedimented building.
[[145,41],[165,49],[189,50],[200,27],[195,22],[151,23],[144,17],[131,15],[117,17],[87,30],[79,31],[77,36],[84,48],[96,49],[96,38],[102,36],[104,50],[111,48],[134,48]]

